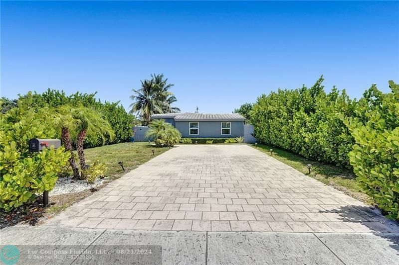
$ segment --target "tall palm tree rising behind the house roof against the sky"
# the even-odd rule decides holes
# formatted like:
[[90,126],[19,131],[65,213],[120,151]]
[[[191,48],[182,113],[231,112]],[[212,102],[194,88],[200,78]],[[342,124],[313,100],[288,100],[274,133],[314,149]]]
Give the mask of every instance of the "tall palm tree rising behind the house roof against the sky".
[[135,95],[130,96],[134,101],[130,107],[131,114],[138,113],[142,118],[143,125],[148,125],[152,114],[179,112],[177,107],[171,107],[177,99],[172,92],[168,91],[173,84],[167,83],[164,75],[151,75],[151,80],[141,81],[140,89],[132,89]]

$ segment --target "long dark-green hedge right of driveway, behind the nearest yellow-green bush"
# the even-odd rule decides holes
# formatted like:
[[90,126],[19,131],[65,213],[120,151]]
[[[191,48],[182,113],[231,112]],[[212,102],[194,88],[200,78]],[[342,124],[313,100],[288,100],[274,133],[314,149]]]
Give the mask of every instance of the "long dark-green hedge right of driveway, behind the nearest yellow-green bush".
[[250,112],[254,135],[264,144],[350,168],[348,153],[355,142],[337,113],[353,115],[355,102],[345,90],[327,94],[322,82],[260,96]]

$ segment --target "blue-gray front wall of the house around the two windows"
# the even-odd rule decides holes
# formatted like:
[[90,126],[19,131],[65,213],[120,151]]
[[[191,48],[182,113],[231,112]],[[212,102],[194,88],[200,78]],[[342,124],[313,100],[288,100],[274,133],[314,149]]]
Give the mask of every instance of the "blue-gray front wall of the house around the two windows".
[[[228,120],[226,120],[228,121]],[[188,138],[230,138],[244,136],[244,122],[243,121],[228,121],[231,122],[230,135],[221,135],[222,121],[194,121],[199,122],[199,135],[190,135],[189,121],[175,121],[175,127],[180,131],[182,137]],[[224,121],[223,121],[224,122]]]

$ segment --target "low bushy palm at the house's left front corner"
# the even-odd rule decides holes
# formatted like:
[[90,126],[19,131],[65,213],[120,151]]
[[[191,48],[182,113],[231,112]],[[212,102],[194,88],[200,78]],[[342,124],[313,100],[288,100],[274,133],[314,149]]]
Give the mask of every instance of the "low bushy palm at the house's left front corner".
[[164,120],[153,120],[149,124],[150,129],[147,130],[145,137],[154,139],[156,146],[174,146],[180,142],[182,134],[171,124]]

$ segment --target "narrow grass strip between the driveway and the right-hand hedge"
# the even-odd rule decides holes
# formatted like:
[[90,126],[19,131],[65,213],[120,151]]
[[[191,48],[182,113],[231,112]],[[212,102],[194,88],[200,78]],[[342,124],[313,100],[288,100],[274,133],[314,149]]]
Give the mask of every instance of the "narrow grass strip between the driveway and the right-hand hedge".
[[[329,186],[339,189],[346,194],[355,197],[367,204],[374,205],[373,199],[366,194],[365,190],[356,180],[353,172],[348,169],[308,160],[302,156],[295,155],[275,147],[270,147],[262,144],[258,144],[257,147],[255,147],[255,145],[251,146],[266,153],[269,156],[269,150],[273,149],[273,158]],[[308,164],[312,165],[310,174],[309,170],[306,167],[306,165]]]

